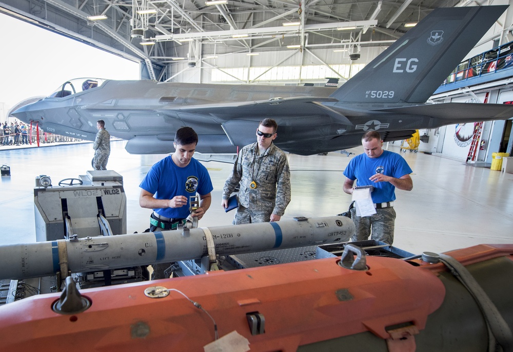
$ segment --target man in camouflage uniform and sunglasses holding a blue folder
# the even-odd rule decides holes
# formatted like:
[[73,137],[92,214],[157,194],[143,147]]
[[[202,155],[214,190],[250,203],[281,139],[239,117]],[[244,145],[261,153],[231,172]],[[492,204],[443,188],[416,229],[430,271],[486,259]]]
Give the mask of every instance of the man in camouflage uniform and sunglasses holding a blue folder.
[[257,142],[242,148],[223,188],[223,208],[240,183],[239,206],[233,224],[279,221],[290,202],[290,169],[286,154],[272,141],[276,121],[266,118],[257,129]]

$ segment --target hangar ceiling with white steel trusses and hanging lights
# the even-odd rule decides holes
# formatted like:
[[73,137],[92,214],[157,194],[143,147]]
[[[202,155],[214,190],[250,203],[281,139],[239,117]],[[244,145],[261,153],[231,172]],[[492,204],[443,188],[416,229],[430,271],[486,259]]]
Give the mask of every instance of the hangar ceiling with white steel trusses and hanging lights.
[[[431,10],[463,0],[3,0],[0,11],[150,68],[234,52],[388,46]],[[214,2],[215,3],[215,2]],[[490,1],[486,1],[490,4]],[[104,19],[88,16],[102,15]],[[285,26],[284,24],[292,24]],[[294,25],[295,24],[295,25]],[[239,36],[234,38],[234,36]],[[147,44],[147,45],[142,45]],[[187,47],[185,47],[187,46]],[[184,49],[187,48],[187,49]]]

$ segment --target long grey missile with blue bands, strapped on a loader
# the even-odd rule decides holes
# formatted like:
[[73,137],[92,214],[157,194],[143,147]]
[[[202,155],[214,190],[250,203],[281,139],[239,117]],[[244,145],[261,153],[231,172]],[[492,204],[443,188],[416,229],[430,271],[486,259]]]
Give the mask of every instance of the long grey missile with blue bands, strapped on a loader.
[[82,273],[346,242],[354,223],[344,216],[199,227],[117,236],[71,238],[0,246],[0,279]]

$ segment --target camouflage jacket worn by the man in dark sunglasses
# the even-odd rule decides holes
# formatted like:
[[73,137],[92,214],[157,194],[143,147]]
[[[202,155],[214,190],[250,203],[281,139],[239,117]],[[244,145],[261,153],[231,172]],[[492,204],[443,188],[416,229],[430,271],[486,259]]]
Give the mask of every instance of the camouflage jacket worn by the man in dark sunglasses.
[[[257,188],[251,189],[255,181]],[[282,216],[290,202],[290,169],[287,155],[271,144],[259,156],[258,143],[242,148],[225,182],[223,199],[228,199],[240,182],[239,204],[250,210],[271,210]]]

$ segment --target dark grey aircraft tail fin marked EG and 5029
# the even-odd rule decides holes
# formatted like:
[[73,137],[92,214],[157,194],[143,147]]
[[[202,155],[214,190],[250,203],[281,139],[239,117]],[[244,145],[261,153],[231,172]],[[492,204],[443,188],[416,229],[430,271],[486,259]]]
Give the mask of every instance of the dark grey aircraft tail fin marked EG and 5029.
[[506,8],[433,10],[330,97],[337,105],[426,102]]

